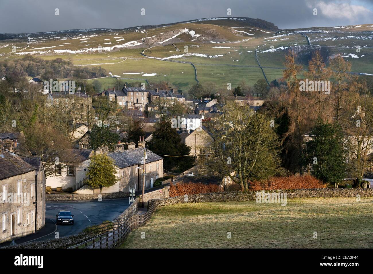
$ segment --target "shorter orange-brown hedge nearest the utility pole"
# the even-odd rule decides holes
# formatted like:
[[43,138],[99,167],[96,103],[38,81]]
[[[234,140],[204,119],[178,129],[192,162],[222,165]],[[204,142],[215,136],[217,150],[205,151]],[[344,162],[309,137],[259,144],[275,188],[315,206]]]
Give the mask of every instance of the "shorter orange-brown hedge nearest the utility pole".
[[170,184],[170,197],[184,196],[185,194],[220,192],[220,186],[214,184]]

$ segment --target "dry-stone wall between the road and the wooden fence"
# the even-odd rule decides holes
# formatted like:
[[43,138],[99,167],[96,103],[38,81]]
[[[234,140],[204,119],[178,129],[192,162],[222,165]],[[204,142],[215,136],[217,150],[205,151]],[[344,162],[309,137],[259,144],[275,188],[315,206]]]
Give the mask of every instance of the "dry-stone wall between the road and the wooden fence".
[[[129,217],[136,214],[138,209],[138,203],[140,202],[139,198],[136,200],[125,210],[122,214],[120,214],[116,219],[113,220],[114,229],[120,227],[125,220]],[[39,242],[29,242],[25,244],[20,244],[16,246],[6,246],[3,248],[68,248],[69,246],[76,245],[81,242],[85,242],[86,240],[90,240],[95,236],[99,236],[103,234],[103,232],[93,234],[93,233],[84,233],[81,232],[77,235],[70,235],[66,237],[61,237],[60,239],[51,239],[46,241],[39,241]]]

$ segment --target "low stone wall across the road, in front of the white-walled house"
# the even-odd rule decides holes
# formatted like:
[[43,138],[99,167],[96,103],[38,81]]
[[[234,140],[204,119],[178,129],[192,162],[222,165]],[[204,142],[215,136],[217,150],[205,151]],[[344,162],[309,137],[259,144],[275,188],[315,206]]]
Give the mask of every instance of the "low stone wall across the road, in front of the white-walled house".
[[46,194],[46,201],[82,201],[82,200],[97,200],[98,195],[102,195],[103,199],[115,199],[129,197],[128,192],[111,192],[111,193],[95,193],[95,194]]

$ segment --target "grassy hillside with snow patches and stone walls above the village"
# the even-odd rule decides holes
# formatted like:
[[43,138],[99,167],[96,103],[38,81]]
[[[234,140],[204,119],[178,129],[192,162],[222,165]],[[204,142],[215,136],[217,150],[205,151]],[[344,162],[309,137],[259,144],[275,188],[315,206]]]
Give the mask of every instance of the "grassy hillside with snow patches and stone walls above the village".
[[[197,81],[215,82],[222,88],[241,80],[253,85],[264,77],[263,72],[270,82],[282,76],[289,48],[298,52],[303,64],[320,49],[325,57],[342,54],[351,61],[353,73],[373,74],[373,24],[279,30],[260,19],[222,17],[126,29],[0,36],[4,60],[26,54],[46,60],[72,58],[74,66],[101,66],[109,76],[128,82],[164,80],[181,90]],[[104,87],[112,83],[110,77],[100,81]]]

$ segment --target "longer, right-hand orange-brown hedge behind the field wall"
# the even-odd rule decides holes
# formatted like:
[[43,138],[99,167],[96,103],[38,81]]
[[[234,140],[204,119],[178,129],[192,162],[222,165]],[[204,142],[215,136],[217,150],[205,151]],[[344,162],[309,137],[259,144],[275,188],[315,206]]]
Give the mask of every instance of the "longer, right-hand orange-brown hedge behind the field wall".
[[262,189],[300,189],[300,188],[325,188],[320,180],[313,176],[272,177],[265,181],[255,181],[250,185],[250,190]]

